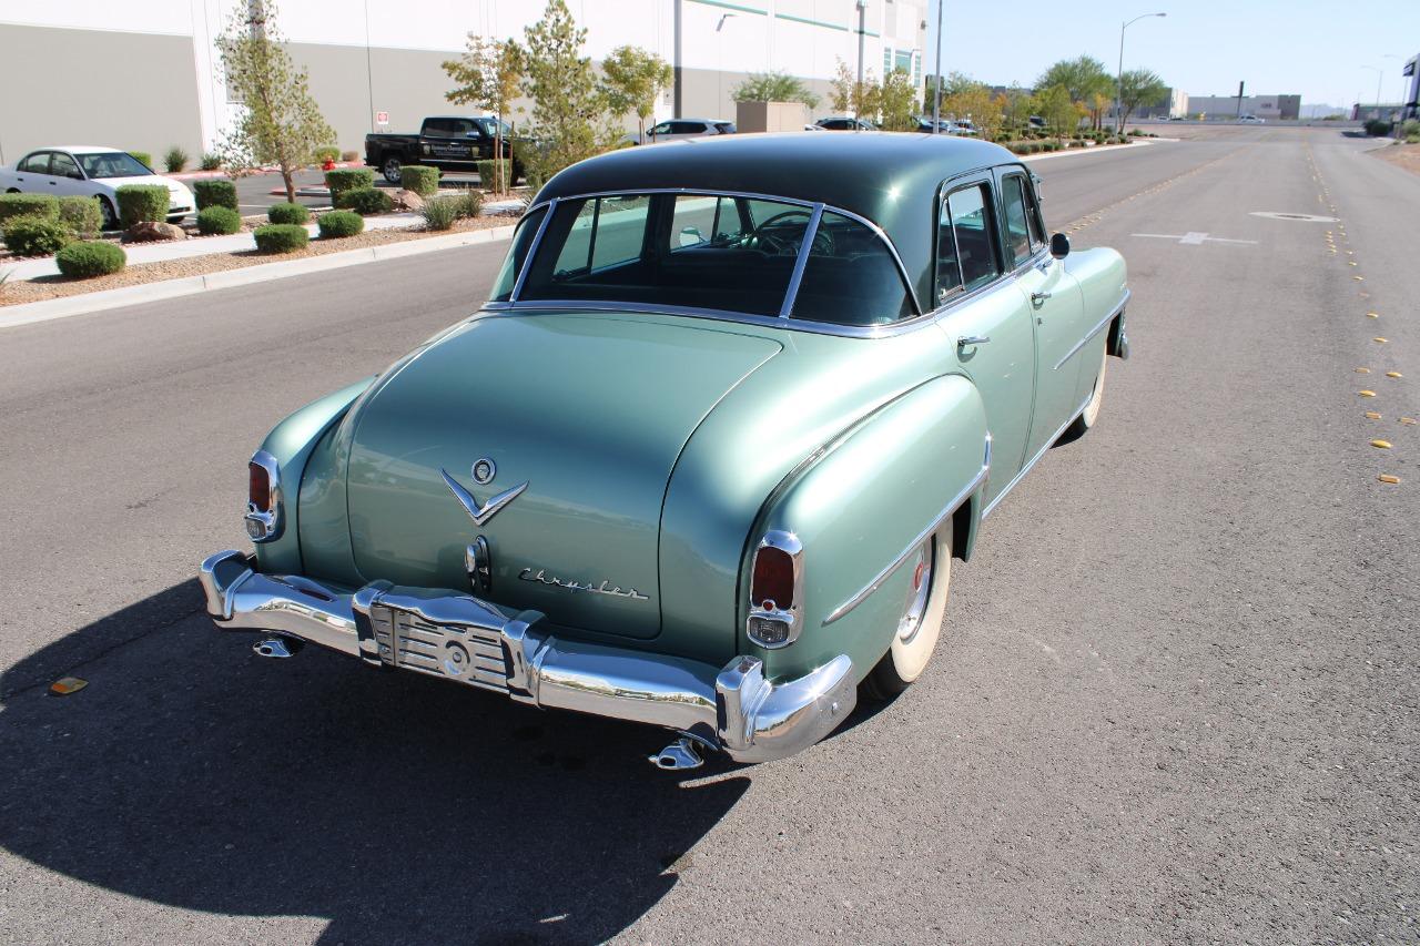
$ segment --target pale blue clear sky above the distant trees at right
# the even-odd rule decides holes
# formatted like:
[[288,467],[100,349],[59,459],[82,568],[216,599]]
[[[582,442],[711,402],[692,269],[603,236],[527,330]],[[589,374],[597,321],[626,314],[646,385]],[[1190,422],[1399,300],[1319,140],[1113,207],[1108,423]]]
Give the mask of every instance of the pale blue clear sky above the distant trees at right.
[[[944,0],[941,71],[991,85],[1031,85],[1054,61],[1082,53],[1113,72],[1119,24],[1125,68],[1150,68],[1190,95],[1299,94],[1304,105],[1349,107],[1360,94],[1399,102],[1400,67],[1420,53],[1420,0]],[[937,0],[927,0],[923,71],[934,72]],[[1392,54],[1396,58],[1387,58]]]

